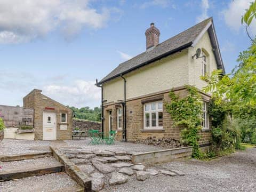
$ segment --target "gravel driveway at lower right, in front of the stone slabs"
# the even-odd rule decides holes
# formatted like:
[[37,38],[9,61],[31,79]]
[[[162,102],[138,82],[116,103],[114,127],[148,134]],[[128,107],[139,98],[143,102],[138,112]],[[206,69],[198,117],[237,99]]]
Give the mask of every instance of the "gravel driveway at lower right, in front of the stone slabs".
[[256,148],[238,151],[210,162],[191,159],[157,165],[185,176],[156,175],[146,181],[129,180],[102,191],[256,191]]

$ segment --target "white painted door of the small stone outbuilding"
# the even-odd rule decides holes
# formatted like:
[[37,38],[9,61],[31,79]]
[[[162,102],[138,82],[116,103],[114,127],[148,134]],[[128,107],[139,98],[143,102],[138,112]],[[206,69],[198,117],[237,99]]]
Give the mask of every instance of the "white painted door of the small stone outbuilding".
[[56,140],[55,113],[43,113],[43,140]]

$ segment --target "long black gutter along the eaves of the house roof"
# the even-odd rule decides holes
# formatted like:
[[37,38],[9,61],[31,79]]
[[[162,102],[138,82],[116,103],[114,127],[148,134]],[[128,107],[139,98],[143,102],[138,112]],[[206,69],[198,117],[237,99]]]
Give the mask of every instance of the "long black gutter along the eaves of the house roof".
[[165,58],[165,57],[167,57],[167,56],[169,56],[169,55],[171,55],[171,54],[173,54],[173,53],[176,53],[176,52],[178,52],[178,51],[181,51],[181,50],[183,50],[183,49],[186,49],[186,48],[190,47],[192,44],[193,44],[193,42],[189,42],[189,43],[187,43],[187,44],[185,44],[185,45],[182,45],[182,46],[178,47],[177,49],[174,49],[174,50],[171,50],[171,51],[169,51],[169,52],[166,52],[166,53],[164,53],[164,54],[162,54],[162,55],[159,55],[158,57],[155,57],[155,58],[153,58],[153,59],[151,59],[151,60],[148,60],[148,61],[146,61],[146,62],[143,62],[143,63],[141,63],[141,64],[138,65],[138,66],[135,66],[135,67],[133,67],[133,68],[131,68],[131,69],[128,69],[128,70],[122,72],[122,74],[119,73],[119,74],[117,74],[117,75],[115,75],[115,76],[113,76],[113,77],[110,77],[110,78],[108,78],[108,79],[106,79],[106,80],[104,80],[104,81],[101,81],[101,82],[99,82],[99,84],[102,85],[102,83],[105,83],[105,82],[107,82],[107,81],[110,81],[111,79],[114,79],[114,78],[116,78],[116,77],[119,77],[120,75],[121,75],[121,77],[122,77],[122,75],[124,75],[124,74],[126,74],[126,73],[129,73],[129,72],[131,72],[131,71],[133,71],[133,70],[135,70],[135,69],[138,69],[138,68],[140,68],[140,67],[146,66],[146,65],[148,65],[149,63],[155,62],[155,61],[157,61],[157,60],[159,60],[159,59],[163,59],[163,58]]

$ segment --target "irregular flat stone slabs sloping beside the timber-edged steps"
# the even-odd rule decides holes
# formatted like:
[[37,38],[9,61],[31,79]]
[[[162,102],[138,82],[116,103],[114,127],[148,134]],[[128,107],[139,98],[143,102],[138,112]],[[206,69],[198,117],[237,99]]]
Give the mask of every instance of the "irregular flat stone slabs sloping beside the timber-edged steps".
[[148,169],[132,163],[132,154],[126,151],[62,149],[62,153],[76,164],[92,180],[92,190],[100,191],[108,185],[119,185],[129,179],[145,181],[151,176],[164,174],[169,176],[184,175],[175,170]]

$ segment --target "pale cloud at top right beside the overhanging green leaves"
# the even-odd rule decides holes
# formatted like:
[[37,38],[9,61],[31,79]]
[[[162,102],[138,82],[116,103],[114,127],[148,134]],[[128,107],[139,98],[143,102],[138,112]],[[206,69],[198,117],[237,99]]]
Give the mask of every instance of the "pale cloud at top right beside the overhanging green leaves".
[[[252,0],[235,0],[231,1],[228,8],[222,11],[226,24],[236,32],[243,26],[241,25],[241,18],[245,10],[249,8]],[[256,22],[252,22],[249,27],[250,32],[256,35]]]

